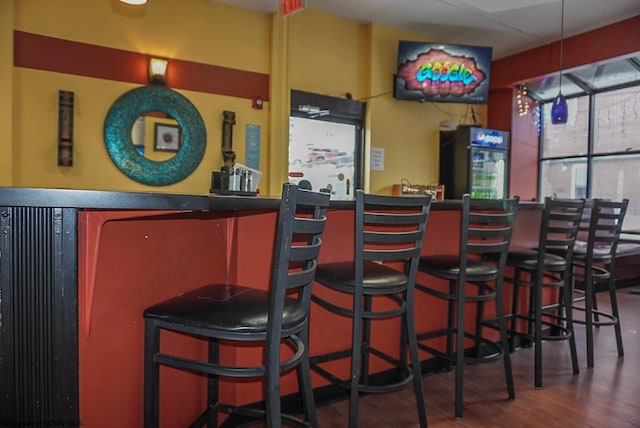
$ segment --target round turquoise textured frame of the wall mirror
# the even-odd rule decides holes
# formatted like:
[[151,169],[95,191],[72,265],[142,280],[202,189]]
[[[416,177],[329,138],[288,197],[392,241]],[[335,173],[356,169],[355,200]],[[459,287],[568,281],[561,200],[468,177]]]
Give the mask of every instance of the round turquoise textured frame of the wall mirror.
[[[133,144],[131,128],[148,112],[166,113],[180,129],[180,147],[162,162],[150,160]],[[206,131],[198,110],[183,95],[162,86],[132,89],[118,98],[107,113],[104,141],[113,163],[126,176],[152,186],[166,186],[188,177],[204,156]]]

